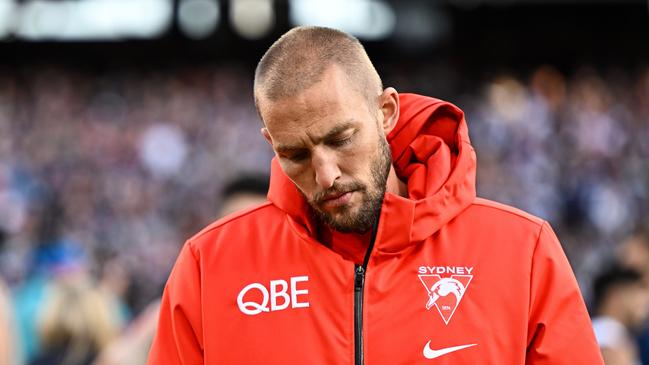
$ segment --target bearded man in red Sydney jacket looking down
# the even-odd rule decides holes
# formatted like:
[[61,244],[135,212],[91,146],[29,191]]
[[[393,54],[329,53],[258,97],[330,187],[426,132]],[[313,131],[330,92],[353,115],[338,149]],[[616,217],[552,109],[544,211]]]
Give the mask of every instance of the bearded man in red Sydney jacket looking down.
[[184,246],[149,364],[601,364],[549,225],[475,197],[455,106],[361,44],[283,35],[255,73],[268,202]]

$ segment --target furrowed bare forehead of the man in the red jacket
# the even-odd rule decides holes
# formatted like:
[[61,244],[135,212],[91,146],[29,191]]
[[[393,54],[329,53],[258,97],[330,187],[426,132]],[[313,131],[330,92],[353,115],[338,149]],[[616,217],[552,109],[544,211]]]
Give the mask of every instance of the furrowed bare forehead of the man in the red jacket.
[[332,66],[322,80],[303,92],[277,101],[262,100],[260,112],[273,138],[299,132],[324,132],[349,120],[366,120],[369,110],[363,95]]

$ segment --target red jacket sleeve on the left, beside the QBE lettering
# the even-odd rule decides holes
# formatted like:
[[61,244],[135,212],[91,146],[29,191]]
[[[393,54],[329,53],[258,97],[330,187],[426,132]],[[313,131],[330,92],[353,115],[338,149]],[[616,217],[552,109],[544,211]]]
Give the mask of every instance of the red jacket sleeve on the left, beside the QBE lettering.
[[203,364],[201,276],[197,255],[188,242],[165,286],[147,365],[199,364]]

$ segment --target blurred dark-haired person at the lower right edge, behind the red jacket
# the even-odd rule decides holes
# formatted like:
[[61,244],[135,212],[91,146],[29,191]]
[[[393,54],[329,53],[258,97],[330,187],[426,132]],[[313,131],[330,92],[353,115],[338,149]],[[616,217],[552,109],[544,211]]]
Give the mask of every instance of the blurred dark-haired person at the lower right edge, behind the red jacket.
[[632,333],[649,316],[649,289],[642,275],[613,267],[595,280],[595,336],[608,365],[640,364]]

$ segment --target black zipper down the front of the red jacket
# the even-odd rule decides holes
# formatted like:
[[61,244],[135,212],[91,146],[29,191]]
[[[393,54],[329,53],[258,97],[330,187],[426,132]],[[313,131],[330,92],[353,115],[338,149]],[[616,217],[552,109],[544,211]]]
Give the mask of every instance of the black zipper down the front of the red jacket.
[[367,264],[370,261],[376,232],[378,230],[379,220],[376,219],[372,226],[372,238],[365,252],[363,265],[354,265],[354,364],[363,365],[365,362],[363,354],[363,293],[365,292],[365,274],[367,273]]

